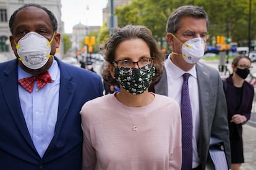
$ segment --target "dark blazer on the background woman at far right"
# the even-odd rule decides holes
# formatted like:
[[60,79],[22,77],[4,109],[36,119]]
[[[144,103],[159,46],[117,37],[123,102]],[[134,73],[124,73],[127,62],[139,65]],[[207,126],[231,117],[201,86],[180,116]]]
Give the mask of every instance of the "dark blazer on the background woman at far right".
[[233,115],[239,113],[240,115],[244,115],[247,120],[249,120],[252,110],[252,102],[254,100],[254,86],[249,84],[247,81],[244,81],[242,86],[242,100],[238,110],[236,109],[236,89],[234,87],[232,75],[226,79],[226,87],[224,87],[226,103],[228,106],[229,126],[233,126],[235,127],[234,129],[237,130],[237,132],[233,133],[231,137],[236,139],[242,139],[242,124],[230,123],[231,118]]

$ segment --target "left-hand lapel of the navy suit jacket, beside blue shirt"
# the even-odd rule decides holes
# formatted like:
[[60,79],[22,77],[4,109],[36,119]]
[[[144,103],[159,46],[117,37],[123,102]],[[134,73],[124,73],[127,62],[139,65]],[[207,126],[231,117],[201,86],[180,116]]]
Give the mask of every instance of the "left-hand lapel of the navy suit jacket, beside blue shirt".
[[27,124],[23,117],[22,109],[20,107],[19,92],[18,92],[18,73],[17,73],[17,60],[12,60],[7,65],[4,73],[6,78],[1,83],[2,94],[6,99],[7,106],[9,107],[12,118],[14,119],[20,133],[23,135],[28,144],[35,149],[30,134],[27,129]]

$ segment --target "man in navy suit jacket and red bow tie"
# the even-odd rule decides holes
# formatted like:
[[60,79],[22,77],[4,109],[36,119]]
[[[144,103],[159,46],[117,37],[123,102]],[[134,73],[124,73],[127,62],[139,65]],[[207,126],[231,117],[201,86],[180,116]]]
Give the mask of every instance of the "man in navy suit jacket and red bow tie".
[[17,59],[0,63],[1,169],[81,169],[79,112],[103,95],[100,76],[54,57],[61,36],[45,7],[25,4],[9,26]]

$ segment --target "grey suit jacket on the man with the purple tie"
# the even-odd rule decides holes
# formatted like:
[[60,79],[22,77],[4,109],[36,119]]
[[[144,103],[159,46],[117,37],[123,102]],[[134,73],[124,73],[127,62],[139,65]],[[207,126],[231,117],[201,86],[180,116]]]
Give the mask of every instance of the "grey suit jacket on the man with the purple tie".
[[[198,132],[198,156],[205,169],[210,137],[223,141],[229,168],[231,167],[231,153],[229,145],[229,129],[227,121],[226,100],[223,92],[223,83],[220,74],[215,68],[204,63],[196,64],[197,83],[199,92],[200,125]],[[150,87],[150,89],[153,89]],[[155,84],[156,94],[168,96],[167,75],[164,68],[163,76]]]

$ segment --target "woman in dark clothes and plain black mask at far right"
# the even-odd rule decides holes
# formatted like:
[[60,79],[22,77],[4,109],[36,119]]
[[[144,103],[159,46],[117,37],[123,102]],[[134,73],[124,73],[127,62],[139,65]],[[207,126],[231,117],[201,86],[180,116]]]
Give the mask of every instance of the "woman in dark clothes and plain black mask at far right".
[[245,81],[250,73],[252,61],[244,55],[234,58],[233,74],[223,80],[228,106],[229,140],[231,145],[231,169],[238,170],[244,163],[242,124],[250,119],[254,86]]

